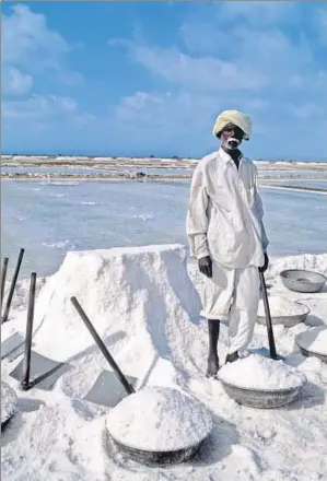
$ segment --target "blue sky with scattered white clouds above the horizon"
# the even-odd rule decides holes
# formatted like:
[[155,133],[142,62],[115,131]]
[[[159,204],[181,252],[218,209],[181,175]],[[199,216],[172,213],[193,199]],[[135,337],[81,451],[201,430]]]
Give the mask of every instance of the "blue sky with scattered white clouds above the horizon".
[[326,159],[324,2],[2,4],[2,151],[200,157],[217,115],[253,159]]

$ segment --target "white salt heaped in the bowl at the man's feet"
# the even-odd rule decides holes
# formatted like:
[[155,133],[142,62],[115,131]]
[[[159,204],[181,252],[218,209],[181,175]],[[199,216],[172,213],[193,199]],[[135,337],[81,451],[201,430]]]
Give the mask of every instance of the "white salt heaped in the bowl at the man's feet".
[[250,354],[225,364],[218,373],[220,380],[245,389],[282,390],[302,386],[304,374],[282,361]]

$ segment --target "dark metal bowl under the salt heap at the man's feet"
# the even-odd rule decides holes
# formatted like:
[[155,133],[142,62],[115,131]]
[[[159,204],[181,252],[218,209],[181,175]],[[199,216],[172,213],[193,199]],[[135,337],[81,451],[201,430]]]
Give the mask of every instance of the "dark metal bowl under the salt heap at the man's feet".
[[224,391],[238,404],[258,409],[276,409],[293,402],[299,397],[304,383],[288,389],[243,388],[221,380]]

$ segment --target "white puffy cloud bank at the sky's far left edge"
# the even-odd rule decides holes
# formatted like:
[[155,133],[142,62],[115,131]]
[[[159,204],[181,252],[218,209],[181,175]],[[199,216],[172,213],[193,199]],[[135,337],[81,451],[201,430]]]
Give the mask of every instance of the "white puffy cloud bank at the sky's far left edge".
[[[90,118],[80,112],[78,103],[68,95],[36,91],[34,80],[50,79],[73,83],[81,77],[66,66],[72,46],[56,31],[48,27],[43,14],[27,5],[16,4],[10,15],[2,16],[2,118],[4,131],[23,126],[28,136],[43,130],[58,129],[58,121],[81,128]],[[27,121],[26,121],[27,120]],[[57,122],[54,127],[52,122]],[[51,127],[49,127],[51,126]],[[26,133],[28,132],[28,133]]]

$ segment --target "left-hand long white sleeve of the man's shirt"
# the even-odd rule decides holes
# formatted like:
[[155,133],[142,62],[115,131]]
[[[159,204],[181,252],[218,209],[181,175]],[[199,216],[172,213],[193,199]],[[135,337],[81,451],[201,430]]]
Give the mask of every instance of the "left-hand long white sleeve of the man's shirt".
[[208,200],[205,173],[202,165],[199,164],[192,175],[186,216],[186,233],[190,256],[197,259],[210,255],[207,242]]

